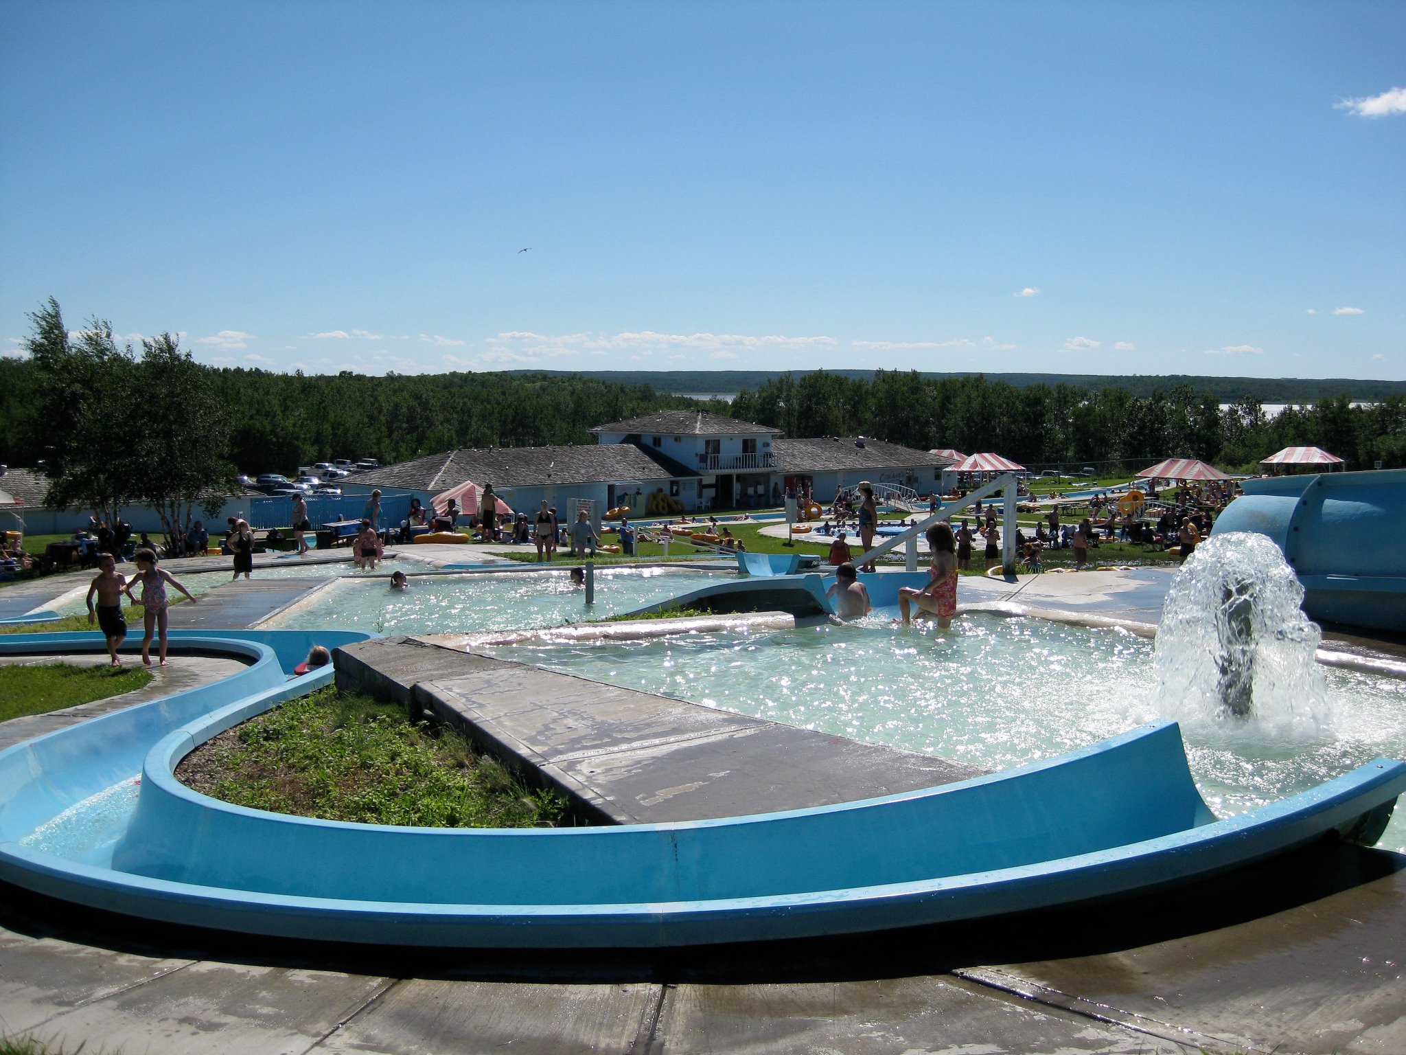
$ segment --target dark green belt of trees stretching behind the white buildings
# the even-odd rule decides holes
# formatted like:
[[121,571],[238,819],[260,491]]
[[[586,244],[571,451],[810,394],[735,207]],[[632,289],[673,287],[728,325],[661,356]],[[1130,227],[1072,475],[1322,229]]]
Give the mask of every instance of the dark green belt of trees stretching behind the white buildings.
[[[0,461],[42,463],[51,499],[94,509],[145,501],[170,523],[233,487],[236,471],[291,473],[332,457],[404,461],[453,447],[591,443],[589,429],[671,408],[709,409],[787,436],[872,436],[927,450],[994,450],[1031,467],[1199,457],[1253,471],[1286,446],[1350,468],[1406,464],[1406,395],[1320,398],[1268,416],[1256,394],[1220,408],[1188,384],[1137,397],[1111,385],[1012,385],[981,376],[877,370],[773,377],[728,404],[599,377],[457,373],[367,377],[215,369],[170,335],[120,346],[93,319],[70,332],[51,300],[28,359],[0,359]],[[1133,463],[1140,463],[1133,466]]]

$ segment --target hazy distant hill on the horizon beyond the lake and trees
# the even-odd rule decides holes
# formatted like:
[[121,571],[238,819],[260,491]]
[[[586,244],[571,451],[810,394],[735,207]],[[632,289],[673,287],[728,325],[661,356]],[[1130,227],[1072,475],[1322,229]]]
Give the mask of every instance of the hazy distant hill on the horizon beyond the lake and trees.
[[[780,377],[786,370],[516,370],[531,374],[579,374],[619,384],[647,384],[657,392],[740,392]],[[810,370],[792,370],[806,374]],[[873,370],[830,370],[842,377],[873,377]],[[1146,398],[1157,388],[1168,391],[1188,384],[1197,394],[1211,392],[1220,402],[1234,402],[1254,395],[1261,402],[1310,404],[1330,395],[1347,394],[1360,402],[1376,402],[1388,395],[1406,394],[1406,381],[1367,381],[1350,377],[1198,377],[1195,374],[998,374],[977,370],[956,373],[922,371],[924,377],[974,377],[1025,388],[1033,384],[1071,384],[1078,388],[1123,388]]]

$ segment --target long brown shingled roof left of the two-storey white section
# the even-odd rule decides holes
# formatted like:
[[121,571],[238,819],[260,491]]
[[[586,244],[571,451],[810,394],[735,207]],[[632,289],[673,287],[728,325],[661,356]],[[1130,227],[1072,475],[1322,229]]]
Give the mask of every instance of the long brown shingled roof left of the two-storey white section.
[[399,487],[408,491],[447,491],[472,480],[501,487],[599,484],[613,480],[669,480],[671,473],[630,443],[569,447],[489,447],[446,450],[440,454],[357,473],[357,487]]

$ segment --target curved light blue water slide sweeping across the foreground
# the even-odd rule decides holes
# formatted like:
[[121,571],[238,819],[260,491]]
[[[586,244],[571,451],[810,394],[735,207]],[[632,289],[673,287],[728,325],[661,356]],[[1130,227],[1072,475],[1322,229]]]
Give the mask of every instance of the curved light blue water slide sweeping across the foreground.
[[[325,684],[312,632],[190,634],[252,665],[0,753],[0,879],[136,917],[444,947],[662,947],[974,919],[1187,882],[1337,833],[1372,843],[1406,765],[1378,760],[1218,820],[1174,723],[1002,774],[839,806],[553,830],[406,829],[249,810],[173,776],[195,746]],[[361,634],[342,634],[344,640]],[[84,643],[84,640],[87,641]],[[30,634],[3,651],[101,648]],[[65,843],[135,789],[110,837]],[[104,799],[105,800],[105,799]]]

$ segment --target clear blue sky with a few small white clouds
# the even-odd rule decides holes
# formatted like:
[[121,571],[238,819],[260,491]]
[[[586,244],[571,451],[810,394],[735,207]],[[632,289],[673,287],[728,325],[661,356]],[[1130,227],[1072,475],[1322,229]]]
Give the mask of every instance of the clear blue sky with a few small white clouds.
[[0,0],[0,347],[1402,380],[1403,89],[1400,3]]

